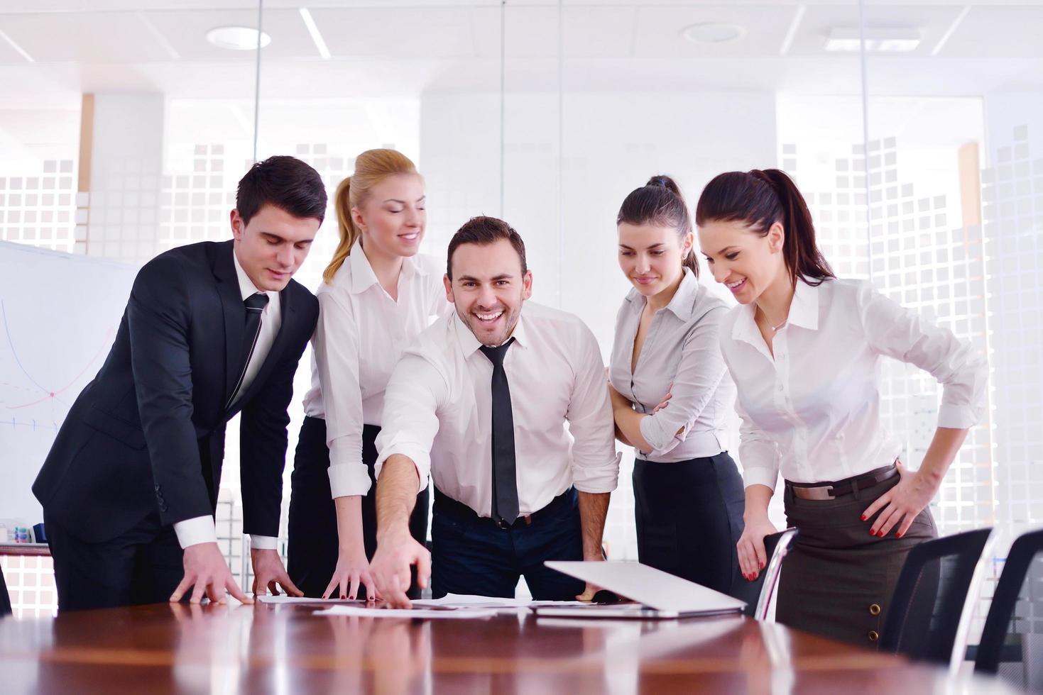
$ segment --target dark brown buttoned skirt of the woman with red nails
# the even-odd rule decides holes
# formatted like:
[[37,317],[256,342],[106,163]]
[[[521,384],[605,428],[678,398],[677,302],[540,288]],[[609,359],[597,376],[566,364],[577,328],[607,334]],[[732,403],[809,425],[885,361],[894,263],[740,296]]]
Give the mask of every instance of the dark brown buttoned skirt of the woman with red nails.
[[894,529],[884,538],[869,535],[877,517],[863,521],[863,513],[898,480],[827,500],[801,499],[786,486],[786,523],[800,532],[782,563],[778,622],[867,647],[879,644],[905,555],[938,538],[928,508],[900,539]]

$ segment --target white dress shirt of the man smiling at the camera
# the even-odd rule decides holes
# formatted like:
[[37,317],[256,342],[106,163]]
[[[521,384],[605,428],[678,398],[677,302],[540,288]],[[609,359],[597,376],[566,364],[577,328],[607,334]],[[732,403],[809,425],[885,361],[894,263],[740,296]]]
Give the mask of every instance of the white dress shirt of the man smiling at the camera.
[[[598,342],[572,314],[528,301],[504,357],[514,420],[519,515],[575,485],[615,489],[612,408]],[[492,508],[492,363],[453,314],[420,333],[394,369],[377,437],[377,473],[393,454],[479,516]],[[566,428],[567,424],[567,428]]]

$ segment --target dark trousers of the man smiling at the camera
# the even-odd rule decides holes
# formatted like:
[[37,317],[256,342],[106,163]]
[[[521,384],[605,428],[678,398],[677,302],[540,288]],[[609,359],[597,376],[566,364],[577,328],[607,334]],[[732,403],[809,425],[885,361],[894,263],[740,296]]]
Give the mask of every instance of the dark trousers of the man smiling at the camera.
[[533,515],[499,528],[469,507],[435,491],[431,522],[431,593],[513,598],[518,577],[537,600],[575,600],[583,581],[543,566],[583,560],[580,511],[574,488]]

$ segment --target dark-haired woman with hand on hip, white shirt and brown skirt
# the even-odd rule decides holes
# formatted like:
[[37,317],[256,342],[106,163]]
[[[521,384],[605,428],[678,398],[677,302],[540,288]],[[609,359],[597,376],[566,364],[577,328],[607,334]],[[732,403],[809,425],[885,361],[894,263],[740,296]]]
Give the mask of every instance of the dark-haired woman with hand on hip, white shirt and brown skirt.
[[[776,530],[768,502],[781,473],[786,520],[799,535],[782,570],[778,621],[873,646],[906,553],[937,536],[927,504],[983,417],[987,365],[869,281],[836,279],[803,197],[779,170],[717,176],[696,224],[714,279],[741,303],[721,346],[743,420],[743,573],[756,578],[768,562],[763,538]],[[884,355],[942,383],[938,429],[917,471],[902,467],[881,422]]]

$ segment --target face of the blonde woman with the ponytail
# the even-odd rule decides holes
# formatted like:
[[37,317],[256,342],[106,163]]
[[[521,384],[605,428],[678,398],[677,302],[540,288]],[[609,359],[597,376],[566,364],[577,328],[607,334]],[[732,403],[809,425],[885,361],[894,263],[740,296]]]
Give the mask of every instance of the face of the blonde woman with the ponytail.
[[428,222],[423,180],[416,174],[388,176],[371,189],[351,219],[362,231],[366,255],[416,255]]

